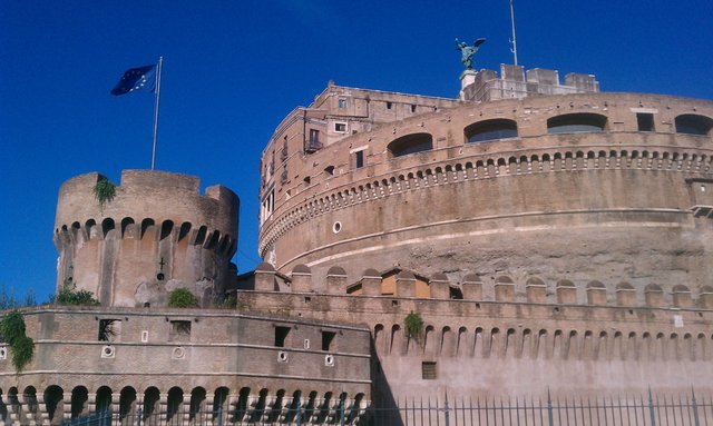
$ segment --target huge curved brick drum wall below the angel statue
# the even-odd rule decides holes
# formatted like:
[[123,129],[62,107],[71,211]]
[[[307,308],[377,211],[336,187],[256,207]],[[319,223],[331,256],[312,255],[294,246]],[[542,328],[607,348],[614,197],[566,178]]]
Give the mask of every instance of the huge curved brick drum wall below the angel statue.
[[[637,113],[651,115],[652,131]],[[548,135],[548,120],[592,115],[603,131]],[[384,123],[291,162],[310,186],[275,182],[260,251],[281,271],[324,275],[398,264],[452,280],[470,271],[556,280],[710,284],[711,136],[677,117],[713,117],[709,101],[638,93],[541,96],[467,103]],[[518,137],[467,142],[501,119]],[[426,132],[433,149],[393,158],[389,143]],[[355,147],[367,147],[364,166]],[[323,172],[333,166],[333,175]],[[277,172],[280,169],[277,165]],[[296,180],[292,180],[293,184]],[[286,191],[290,190],[290,195]]]

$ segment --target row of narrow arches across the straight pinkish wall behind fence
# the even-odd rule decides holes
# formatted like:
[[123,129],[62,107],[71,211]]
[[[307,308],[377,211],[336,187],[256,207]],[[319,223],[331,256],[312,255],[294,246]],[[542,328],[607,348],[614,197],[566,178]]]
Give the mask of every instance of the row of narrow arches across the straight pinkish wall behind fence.
[[713,335],[704,333],[651,333],[621,330],[531,330],[499,327],[440,330],[432,325],[418,338],[407,336],[401,325],[373,329],[374,349],[380,356],[413,355],[469,358],[558,358],[584,360],[691,360],[713,359]]

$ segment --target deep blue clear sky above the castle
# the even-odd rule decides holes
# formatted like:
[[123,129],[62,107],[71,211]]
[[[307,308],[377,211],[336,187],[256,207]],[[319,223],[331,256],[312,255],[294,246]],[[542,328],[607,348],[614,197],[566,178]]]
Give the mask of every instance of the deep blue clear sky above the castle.
[[[713,99],[710,0],[516,0],[526,68],[594,73],[604,91]],[[148,168],[150,93],[113,97],[164,60],[156,168],[241,197],[246,271],[260,261],[257,164],[275,126],[338,85],[456,97],[455,38],[511,62],[508,0],[0,0],[0,284],[53,293],[62,181]]]

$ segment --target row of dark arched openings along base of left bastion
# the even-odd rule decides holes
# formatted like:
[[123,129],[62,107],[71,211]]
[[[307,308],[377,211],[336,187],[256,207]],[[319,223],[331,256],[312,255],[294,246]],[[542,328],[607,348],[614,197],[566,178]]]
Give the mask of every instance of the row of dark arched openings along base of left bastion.
[[[20,394],[16,387],[10,388],[2,398],[0,416],[7,420],[13,413],[20,423],[37,422],[41,413],[47,414],[50,424],[59,425],[67,418],[78,419],[97,414],[111,414],[113,419],[121,425],[134,425],[140,419],[144,425],[180,424],[203,425],[221,420],[221,424],[236,423],[295,423],[301,414],[302,423],[340,424],[342,415],[345,424],[352,424],[359,416],[364,394],[356,394],[354,399],[348,400],[346,393],[334,394],[326,392],[320,395],[313,390],[303,395],[302,390],[287,394],[285,389],[277,390],[272,397],[268,389],[260,389],[251,397],[252,389],[240,389],[237,400],[231,403],[227,387],[216,388],[208,395],[204,387],[195,387],[189,399],[185,398],[180,387],[172,387],[162,404],[160,392],[157,387],[148,387],[139,403],[134,387],[124,387],[117,398],[108,386],[97,389],[94,400],[85,386],[77,386],[71,390],[69,406],[66,405],[65,390],[52,385],[42,394],[43,406],[38,398],[38,390],[28,386]],[[186,400],[188,404],[186,405]],[[68,408],[69,413],[65,413]],[[118,408],[118,413],[115,413]],[[38,423],[39,424],[39,423]]]

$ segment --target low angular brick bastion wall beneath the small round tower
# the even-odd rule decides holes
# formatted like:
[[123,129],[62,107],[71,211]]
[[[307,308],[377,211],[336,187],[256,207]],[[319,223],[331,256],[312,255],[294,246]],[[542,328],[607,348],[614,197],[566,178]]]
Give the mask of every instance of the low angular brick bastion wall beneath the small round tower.
[[[296,399],[334,415],[342,393],[346,413],[365,408],[370,398],[370,335],[361,326],[221,309],[36,308],[25,318],[32,361],[18,374],[10,356],[0,359],[7,408],[0,415],[16,424],[59,424],[99,407],[119,413],[126,404],[136,412],[154,389],[157,413],[178,400],[187,416],[196,398],[209,412],[221,399],[226,416],[243,409],[251,418],[263,409],[265,419],[284,416]],[[99,340],[108,319],[115,333]],[[289,328],[282,347],[277,327]],[[329,350],[322,350],[325,331],[333,334]]]

